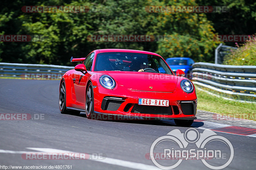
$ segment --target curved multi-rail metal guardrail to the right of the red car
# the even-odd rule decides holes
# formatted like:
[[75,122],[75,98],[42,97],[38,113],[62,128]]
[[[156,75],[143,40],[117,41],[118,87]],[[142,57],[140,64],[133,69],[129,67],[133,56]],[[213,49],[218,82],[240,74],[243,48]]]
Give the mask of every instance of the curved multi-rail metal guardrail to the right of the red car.
[[199,88],[230,99],[256,102],[256,66],[199,62],[193,68],[192,80]]

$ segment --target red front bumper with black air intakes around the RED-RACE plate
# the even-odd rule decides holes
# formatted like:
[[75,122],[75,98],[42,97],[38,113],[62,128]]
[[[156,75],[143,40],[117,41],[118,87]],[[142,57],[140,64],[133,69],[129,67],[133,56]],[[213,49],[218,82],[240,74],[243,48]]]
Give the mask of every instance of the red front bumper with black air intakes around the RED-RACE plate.
[[[118,85],[113,90],[94,86],[94,113],[154,119],[196,119],[196,92],[135,91]],[[169,107],[138,105],[139,98],[169,100]]]

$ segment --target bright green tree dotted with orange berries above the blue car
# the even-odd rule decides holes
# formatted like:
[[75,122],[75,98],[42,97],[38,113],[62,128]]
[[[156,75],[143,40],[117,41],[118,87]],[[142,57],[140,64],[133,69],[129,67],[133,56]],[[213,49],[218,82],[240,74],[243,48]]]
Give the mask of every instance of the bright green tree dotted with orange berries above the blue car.
[[[196,6],[194,1],[166,2],[163,6]],[[158,42],[157,52],[168,57],[191,57],[195,61],[213,62],[214,28],[203,13],[160,13],[162,33],[169,37]]]

